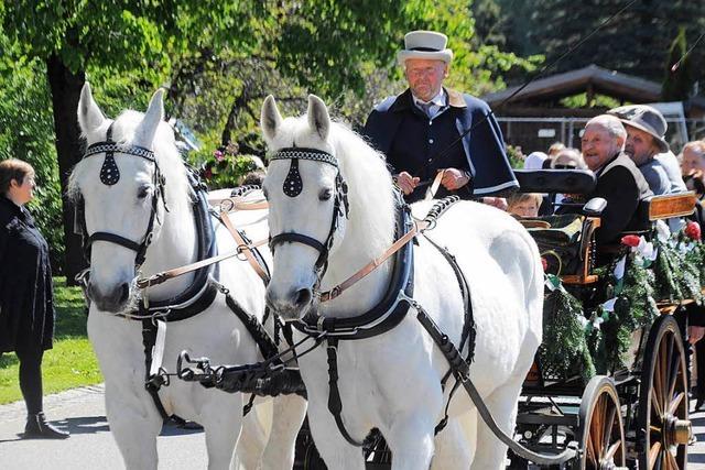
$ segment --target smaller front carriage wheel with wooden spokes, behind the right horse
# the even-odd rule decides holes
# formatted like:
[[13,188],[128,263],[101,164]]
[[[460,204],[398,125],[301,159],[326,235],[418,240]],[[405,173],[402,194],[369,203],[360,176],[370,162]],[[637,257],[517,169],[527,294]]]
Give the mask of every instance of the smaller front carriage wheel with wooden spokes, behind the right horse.
[[581,400],[581,470],[626,468],[625,427],[611,379],[594,376]]

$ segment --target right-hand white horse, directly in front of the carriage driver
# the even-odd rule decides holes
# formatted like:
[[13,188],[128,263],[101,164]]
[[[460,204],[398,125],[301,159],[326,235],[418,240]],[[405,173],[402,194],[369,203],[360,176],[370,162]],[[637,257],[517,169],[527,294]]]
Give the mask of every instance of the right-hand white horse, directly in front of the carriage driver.
[[[383,157],[352,131],[332,122],[326,106],[315,96],[308,98],[307,117],[285,120],[268,97],[261,125],[273,153],[264,181],[272,237],[299,233],[325,244],[332,217],[339,217],[337,227],[333,226],[322,280],[315,267],[321,253],[310,242],[290,239],[275,244],[268,303],[289,320],[306,313],[347,318],[369,310],[388,288],[392,261],[330,302],[319,303],[317,294],[380,256],[394,241],[393,186]],[[300,159],[302,188],[296,195],[291,184],[294,163],[276,160],[282,149],[323,151],[333,155],[338,167],[315,157]],[[338,171],[349,188],[348,220],[333,214],[341,187],[336,184]],[[427,204],[417,205],[414,212],[425,215],[427,208]],[[469,201],[452,206],[427,234],[457,258],[468,281],[477,328],[470,376],[499,426],[512,435],[522,382],[541,342],[543,272],[538,249],[510,216]],[[441,253],[423,237],[417,241],[413,297],[458,345],[464,323],[458,282]],[[503,468],[507,447],[482,422],[476,424],[476,449],[460,431],[457,417],[474,408],[463,390],[453,398],[448,426],[434,439],[434,426],[443,417],[453,381],[444,393],[440,381],[448,363],[415,319],[413,308],[410,310],[387,332],[338,343],[345,428],[358,441],[371,428],[379,428],[392,451],[393,469],[427,469],[431,464],[467,469],[470,463],[478,470]],[[301,357],[300,367],[308,393],[311,429],[328,468],[362,469],[360,450],[344,439],[327,409],[326,349]]]

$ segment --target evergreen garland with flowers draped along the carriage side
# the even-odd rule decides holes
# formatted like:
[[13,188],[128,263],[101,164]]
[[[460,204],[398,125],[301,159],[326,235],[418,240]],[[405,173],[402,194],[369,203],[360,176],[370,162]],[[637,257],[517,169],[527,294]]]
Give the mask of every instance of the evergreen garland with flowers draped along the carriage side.
[[660,315],[654,299],[705,303],[705,243],[683,232],[669,240],[654,233],[653,240],[653,251],[641,240],[638,248],[625,247],[626,258],[594,271],[605,280],[598,289],[605,295],[590,311],[556,276],[546,275],[544,341],[539,348],[544,378],[579,374],[587,383],[596,373],[631,368],[633,332],[648,330]]

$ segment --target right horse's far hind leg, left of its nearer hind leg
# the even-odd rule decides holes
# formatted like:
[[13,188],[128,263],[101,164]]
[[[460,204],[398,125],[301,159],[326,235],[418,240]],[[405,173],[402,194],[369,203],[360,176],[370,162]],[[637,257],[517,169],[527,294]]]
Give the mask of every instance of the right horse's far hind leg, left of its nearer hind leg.
[[[466,413],[448,420],[448,425],[435,438],[435,453],[431,468],[463,469],[470,468],[475,451],[474,436],[468,436],[466,428],[473,425],[474,416]],[[466,423],[467,422],[467,423]]]

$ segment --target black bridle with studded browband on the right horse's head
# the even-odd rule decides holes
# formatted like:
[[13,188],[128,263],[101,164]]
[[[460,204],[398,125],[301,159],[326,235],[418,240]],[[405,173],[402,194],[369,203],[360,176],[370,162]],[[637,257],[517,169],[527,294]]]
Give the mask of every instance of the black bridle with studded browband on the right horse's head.
[[274,160],[291,160],[289,174],[286,175],[286,178],[284,178],[283,184],[283,192],[289,197],[296,197],[303,190],[303,182],[301,181],[301,174],[299,173],[299,160],[311,160],[314,162],[326,163],[336,167],[337,173],[335,176],[335,199],[333,203],[333,216],[330,220],[330,230],[328,231],[326,241],[322,243],[315,238],[302,233],[283,232],[271,237],[269,242],[272,255],[274,254],[274,249],[276,248],[276,245],[285,242],[302,243],[316,250],[318,252],[318,259],[315,263],[317,280],[314,287],[317,288],[328,266],[328,254],[330,252],[330,248],[333,248],[335,232],[338,229],[338,219],[340,217],[345,217],[346,219],[349,218],[350,208],[348,203],[348,185],[347,183],[345,183],[343,176],[340,175],[338,160],[333,154],[324,152],[322,150],[286,147],[275,152],[270,156],[269,160],[270,162]]

